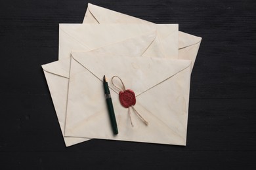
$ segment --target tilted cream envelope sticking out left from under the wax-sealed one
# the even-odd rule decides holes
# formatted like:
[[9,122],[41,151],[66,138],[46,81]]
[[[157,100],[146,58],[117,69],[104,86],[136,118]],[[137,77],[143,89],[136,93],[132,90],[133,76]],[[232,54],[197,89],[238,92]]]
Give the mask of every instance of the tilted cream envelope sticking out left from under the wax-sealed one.
[[[133,24],[136,25],[136,24]],[[66,26],[66,25],[63,25]],[[99,26],[98,24],[95,27]],[[102,27],[102,26],[100,26]],[[173,25],[176,27],[177,25]],[[176,31],[177,34],[177,31]],[[66,35],[64,35],[66,36]],[[148,33],[143,33],[142,35],[131,37],[125,39],[124,41],[119,41],[108,46],[103,46],[91,50],[93,53],[105,54],[105,55],[118,55],[121,56],[140,56],[144,53],[145,49],[152,44],[156,37],[156,31],[150,31]],[[177,36],[176,36],[177,37]],[[64,40],[63,37],[61,37]],[[70,37],[67,37],[69,39]],[[121,37],[122,39],[123,37]],[[66,40],[65,40],[66,41]],[[72,40],[71,40],[72,41]],[[74,41],[74,40],[73,40]],[[175,42],[176,41],[176,42]],[[177,39],[173,39],[173,43],[177,44]],[[156,46],[155,46],[156,47]],[[66,48],[69,48],[66,45]],[[75,48],[78,50],[78,48]],[[81,50],[81,49],[79,49]],[[70,51],[71,52],[71,51]],[[66,55],[70,55],[70,52],[66,51]],[[161,56],[156,56],[161,57]],[[64,127],[66,121],[66,104],[67,104],[67,95],[68,95],[68,81],[70,75],[70,58],[60,59],[53,63],[42,65],[43,71],[45,73],[45,78],[47,79],[47,84],[53,99],[54,108],[58,117],[58,122],[62,134],[64,135]],[[87,141],[85,138],[77,137],[64,137],[64,142],[66,146],[71,146],[73,144],[81,143]]]

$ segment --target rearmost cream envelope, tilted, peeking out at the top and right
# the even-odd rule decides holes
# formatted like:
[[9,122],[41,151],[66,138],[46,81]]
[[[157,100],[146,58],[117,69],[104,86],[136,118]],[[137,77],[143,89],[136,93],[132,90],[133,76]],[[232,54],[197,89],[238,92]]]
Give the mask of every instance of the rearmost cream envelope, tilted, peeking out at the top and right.
[[[88,3],[87,11],[85,13],[85,18],[83,20],[84,24],[87,23],[95,23],[95,24],[106,24],[106,23],[138,23],[145,25],[158,25],[158,37],[168,37],[168,33],[165,31],[167,29],[164,28],[164,24],[154,24],[152,22],[147,22],[145,20],[141,20],[139,18],[135,18],[133,16],[129,16],[126,14],[121,14],[114,10],[104,9],[102,7],[98,7],[91,3]],[[160,38],[160,42],[161,42]],[[158,40],[158,39],[157,39]],[[200,43],[202,41],[201,37],[196,37],[194,35],[190,35],[188,33],[183,33],[179,31],[179,57],[175,59],[190,59],[192,60],[192,67],[196,60],[196,55],[198,54],[198,50],[200,47]],[[171,44],[162,43],[164,49],[172,48]],[[165,51],[165,56],[169,58],[173,58],[172,56],[168,56],[168,52]],[[191,69],[192,69],[191,67]]]

